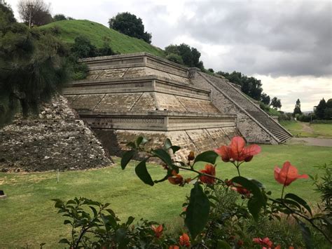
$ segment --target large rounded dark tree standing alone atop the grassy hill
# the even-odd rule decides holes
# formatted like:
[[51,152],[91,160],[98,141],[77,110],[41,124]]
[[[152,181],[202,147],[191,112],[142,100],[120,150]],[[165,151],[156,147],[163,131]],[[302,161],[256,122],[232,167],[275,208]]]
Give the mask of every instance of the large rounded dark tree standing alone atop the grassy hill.
[[147,43],[151,43],[152,35],[144,32],[144,25],[141,18],[137,18],[129,12],[118,13],[115,17],[109,19],[109,27],[127,36],[143,39]]

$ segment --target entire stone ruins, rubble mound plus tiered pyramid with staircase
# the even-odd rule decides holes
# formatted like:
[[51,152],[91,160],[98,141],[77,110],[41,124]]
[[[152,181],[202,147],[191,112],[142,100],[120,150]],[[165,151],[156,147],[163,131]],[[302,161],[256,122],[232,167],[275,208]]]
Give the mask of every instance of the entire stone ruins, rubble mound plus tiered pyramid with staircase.
[[291,137],[223,77],[148,53],[81,62],[90,69],[88,79],[71,83],[39,116],[0,130],[0,170],[108,166],[109,155],[121,156],[138,135],[150,138],[151,147],[170,138],[181,146],[176,156],[182,159],[235,135],[266,144]]

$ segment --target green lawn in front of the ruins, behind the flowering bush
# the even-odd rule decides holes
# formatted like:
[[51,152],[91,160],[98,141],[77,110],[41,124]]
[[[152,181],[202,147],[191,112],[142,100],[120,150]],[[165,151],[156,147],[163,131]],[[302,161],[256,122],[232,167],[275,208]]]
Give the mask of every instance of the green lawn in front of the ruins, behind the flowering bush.
[[[262,153],[250,163],[244,163],[242,175],[253,177],[279,195],[282,186],[275,182],[273,169],[286,160],[300,173],[316,174],[314,166],[332,161],[331,147],[303,145],[263,145]],[[118,162],[119,159],[116,159]],[[148,166],[153,179],[165,173],[157,165]],[[217,175],[233,177],[235,168],[230,163],[219,163]],[[148,220],[165,222],[170,231],[181,227],[181,203],[191,186],[178,187],[164,182],[150,187],[134,174],[134,165],[121,170],[118,164],[109,168],[60,173],[0,173],[0,189],[8,195],[0,201],[0,248],[30,245],[38,247],[46,242],[48,248],[58,247],[57,241],[69,235],[69,227],[62,225],[62,217],[53,207],[52,198],[67,200],[85,196],[96,201],[109,202],[122,219],[132,215]],[[303,196],[315,203],[319,196],[314,192],[311,180],[297,180],[286,192]]]

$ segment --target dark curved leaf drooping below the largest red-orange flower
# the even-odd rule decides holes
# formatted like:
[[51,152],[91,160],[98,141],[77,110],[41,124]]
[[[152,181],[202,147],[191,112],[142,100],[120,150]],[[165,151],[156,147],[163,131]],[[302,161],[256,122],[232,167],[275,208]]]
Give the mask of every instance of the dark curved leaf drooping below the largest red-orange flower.
[[242,187],[248,189],[251,194],[253,194],[253,196],[251,196],[249,199],[247,206],[251,215],[256,221],[258,221],[261,208],[266,205],[266,198],[264,198],[261,189],[259,189],[259,187],[254,182],[251,182],[251,180],[248,180],[245,177],[237,176],[234,177],[231,181],[237,184],[241,184]]

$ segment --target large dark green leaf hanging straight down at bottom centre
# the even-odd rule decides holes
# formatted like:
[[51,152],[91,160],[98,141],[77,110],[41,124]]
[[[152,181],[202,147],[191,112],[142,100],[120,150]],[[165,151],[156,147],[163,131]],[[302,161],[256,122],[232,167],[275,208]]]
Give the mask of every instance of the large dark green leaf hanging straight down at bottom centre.
[[209,210],[209,198],[204,194],[200,184],[196,182],[193,189],[191,189],[186,219],[184,220],[193,239],[205,228],[209,220]]

